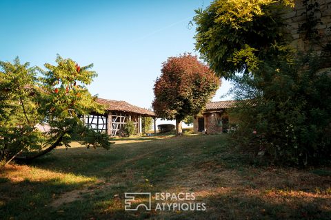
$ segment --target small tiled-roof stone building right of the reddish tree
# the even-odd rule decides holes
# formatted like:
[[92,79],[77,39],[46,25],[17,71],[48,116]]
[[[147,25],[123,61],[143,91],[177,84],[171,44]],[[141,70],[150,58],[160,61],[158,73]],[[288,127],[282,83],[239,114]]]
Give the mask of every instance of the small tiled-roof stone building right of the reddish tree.
[[194,116],[194,132],[208,134],[227,132],[229,129],[229,115],[227,109],[234,106],[237,101],[208,102],[201,115]]

